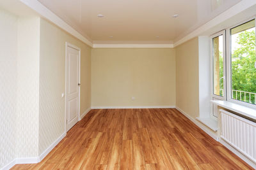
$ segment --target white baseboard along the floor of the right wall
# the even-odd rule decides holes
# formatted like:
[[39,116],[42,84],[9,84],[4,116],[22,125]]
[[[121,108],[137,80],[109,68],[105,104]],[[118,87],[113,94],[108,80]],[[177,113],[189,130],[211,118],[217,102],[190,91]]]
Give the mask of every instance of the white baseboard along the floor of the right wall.
[[253,168],[256,169],[256,164],[254,164],[250,159],[248,159],[247,157],[245,157],[242,153],[240,153],[238,150],[236,150],[236,148],[233,148],[231,145],[229,145],[228,143],[226,143],[223,139],[219,139],[218,136],[216,136],[214,133],[211,132],[210,129],[207,129],[207,127],[204,127],[204,125],[201,125],[200,122],[198,122],[197,120],[195,120],[195,118],[191,117],[188,115],[188,113],[186,113],[185,111],[181,110],[180,108],[178,108],[176,106],[176,109],[180,111],[180,113],[182,113],[185,117],[189,118],[189,120],[191,120],[194,124],[196,124],[198,127],[200,127],[200,129],[202,129],[203,131],[205,131],[207,134],[209,134],[209,136],[211,136],[213,139],[215,139],[216,141],[219,141],[222,145],[224,145],[226,148],[228,148],[228,150],[230,150],[231,152],[233,152],[235,155],[237,155],[239,158],[241,158],[242,160],[244,160],[244,162],[246,162],[247,164],[249,164],[250,166],[252,166]]

